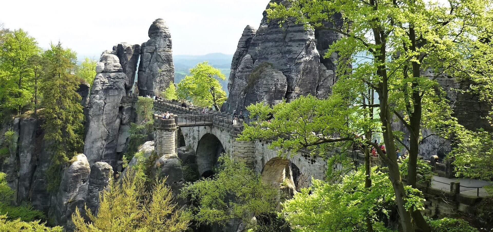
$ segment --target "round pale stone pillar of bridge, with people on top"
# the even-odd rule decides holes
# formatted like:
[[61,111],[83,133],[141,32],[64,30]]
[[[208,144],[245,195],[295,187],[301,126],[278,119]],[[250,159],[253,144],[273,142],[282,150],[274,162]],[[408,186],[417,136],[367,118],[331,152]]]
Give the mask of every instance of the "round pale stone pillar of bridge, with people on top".
[[154,138],[155,150],[159,157],[166,154],[176,153],[176,123],[175,118],[161,119],[154,118],[154,128],[156,136]]

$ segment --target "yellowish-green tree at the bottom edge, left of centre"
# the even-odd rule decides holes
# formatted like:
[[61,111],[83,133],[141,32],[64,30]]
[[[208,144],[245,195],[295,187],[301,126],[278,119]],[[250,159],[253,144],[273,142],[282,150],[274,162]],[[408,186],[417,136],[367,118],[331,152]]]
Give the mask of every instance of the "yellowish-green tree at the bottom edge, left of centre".
[[171,188],[165,179],[156,180],[149,191],[141,174],[129,173],[122,184],[111,182],[100,195],[98,214],[86,207],[91,222],[86,223],[79,210],[72,216],[78,232],[183,232],[189,216],[176,209]]

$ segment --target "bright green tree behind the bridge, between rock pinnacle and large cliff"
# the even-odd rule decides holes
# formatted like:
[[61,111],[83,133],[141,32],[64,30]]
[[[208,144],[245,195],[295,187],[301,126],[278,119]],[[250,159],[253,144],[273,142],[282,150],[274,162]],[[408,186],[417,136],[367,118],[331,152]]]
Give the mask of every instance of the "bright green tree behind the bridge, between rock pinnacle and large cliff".
[[219,105],[226,100],[226,92],[222,90],[219,79],[226,79],[221,70],[212,67],[208,62],[199,63],[190,69],[190,75],[178,83],[178,98],[190,99],[199,106],[212,105],[219,109]]

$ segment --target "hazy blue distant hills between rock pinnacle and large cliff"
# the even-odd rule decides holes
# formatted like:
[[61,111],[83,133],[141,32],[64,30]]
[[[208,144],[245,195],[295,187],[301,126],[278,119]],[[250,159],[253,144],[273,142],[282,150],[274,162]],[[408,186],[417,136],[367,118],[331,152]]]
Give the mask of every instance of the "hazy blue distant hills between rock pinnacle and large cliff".
[[175,83],[180,82],[185,75],[190,73],[190,68],[196,66],[198,63],[208,61],[209,65],[214,66],[221,70],[221,72],[226,76],[226,80],[219,81],[228,93],[228,77],[231,69],[231,61],[233,60],[233,55],[227,55],[223,53],[211,53],[207,55],[175,55],[173,56],[173,63],[175,64]]

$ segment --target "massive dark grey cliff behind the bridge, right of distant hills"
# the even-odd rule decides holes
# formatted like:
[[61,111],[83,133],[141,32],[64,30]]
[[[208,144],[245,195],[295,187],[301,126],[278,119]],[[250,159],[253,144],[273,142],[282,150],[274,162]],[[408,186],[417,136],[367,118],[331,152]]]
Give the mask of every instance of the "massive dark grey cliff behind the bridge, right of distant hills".
[[[334,18],[340,22],[340,16]],[[326,23],[326,27],[334,25]],[[241,111],[254,102],[275,104],[308,94],[327,97],[336,80],[338,56],[324,59],[323,55],[340,37],[329,30],[305,30],[292,23],[280,28],[278,21],[268,22],[264,11],[259,29],[247,26],[240,38],[231,62],[229,98],[222,111]]]

